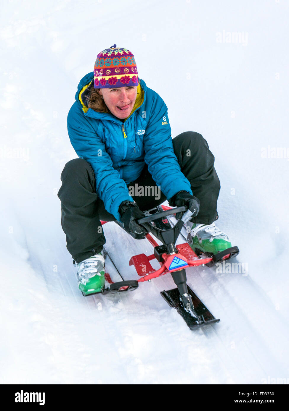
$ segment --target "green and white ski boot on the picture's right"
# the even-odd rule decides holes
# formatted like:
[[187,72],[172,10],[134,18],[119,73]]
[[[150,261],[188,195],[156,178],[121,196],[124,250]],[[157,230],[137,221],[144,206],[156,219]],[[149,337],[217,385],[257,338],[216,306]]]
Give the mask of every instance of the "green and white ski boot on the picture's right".
[[188,222],[187,242],[196,254],[206,254],[212,256],[218,252],[232,247],[228,236],[219,230],[215,223],[196,224]]

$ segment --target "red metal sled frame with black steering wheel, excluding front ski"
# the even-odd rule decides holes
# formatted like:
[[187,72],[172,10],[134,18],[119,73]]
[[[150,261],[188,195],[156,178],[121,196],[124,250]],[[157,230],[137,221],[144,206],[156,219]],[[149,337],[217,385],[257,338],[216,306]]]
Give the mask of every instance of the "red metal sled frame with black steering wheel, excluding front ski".
[[[173,273],[176,271],[181,271],[189,267],[196,267],[200,265],[205,265],[210,263],[211,265],[214,264],[216,261],[221,261],[224,259],[229,258],[230,256],[235,255],[231,249],[225,250],[224,252],[218,253],[218,258],[216,256],[207,257],[207,258],[199,258],[198,255],[191,249],[187,242],[183,244],[179,244],[175,246],[175,242],[177,237],[179,236],[180,230],[184,224],[183,219],[179,219],[175,226],[170,227],[169,229],[161,229],[152,226],[151,221],[162,219],[163,226],[167,224],[169,225],[168,220],[164,218],[166,215],[176,214],[177,212],[189,212],[186,206],[171,208],[165,205],[161,206],[163,212],[156,212],[155,214],[149,215],[142,219],[138,220],[138,224],[141,224],[148,232],[147,234],[142,235],[139,238],[147,238],[147,240],[153,245],[154,247],[154,254],[147,256],[146,254],[137,254],[131,257],[129,261],[129,265],[135,266],[135,269],[138,275],[141,277],[138,279],[138,282],[149,281],[152,278],[159,277],[161,275],[165,275],[168,272]],[[189,212],[190,213],[190,212]],[[183,214],[182,218],[185,214]],[[159,220],[160,221],[160,220]],[[105,224],[106,222],[102,221],[101,224]],[[119,224],[117,222],[117,224]],[[119,224],[122,228],[124,228],[121,224]],[[170,225],[169,225],[170,226]],[[152,238],[149,234],[151,232],[156,238],[163,242],[163,245],[158,245],[158,243]],[[162,234],[161,234],[162,232]],[[129,233],[131,234],[131,233]],[[131,234],[132,235],[132,234]],[[133,236],[134,238],[138,238]],[[235,247],[232,247],[232,249]],[[231,254],[232,252],[232,254]],[[158,270],[155,270],[149,261],[157,259],[160,263],[161,267]],[[118,291],[128,291],[129,286],[121,286]],[[135,289],[136,287],[132,287]]]

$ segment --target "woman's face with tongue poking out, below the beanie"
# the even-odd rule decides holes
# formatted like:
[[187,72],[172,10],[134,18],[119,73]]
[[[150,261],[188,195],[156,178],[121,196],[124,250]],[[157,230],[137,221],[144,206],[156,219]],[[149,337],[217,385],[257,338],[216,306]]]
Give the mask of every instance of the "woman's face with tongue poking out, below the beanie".
[[137,96],[137,87],[100,88],[107,108],[117,118],[126,118],[131,114]]

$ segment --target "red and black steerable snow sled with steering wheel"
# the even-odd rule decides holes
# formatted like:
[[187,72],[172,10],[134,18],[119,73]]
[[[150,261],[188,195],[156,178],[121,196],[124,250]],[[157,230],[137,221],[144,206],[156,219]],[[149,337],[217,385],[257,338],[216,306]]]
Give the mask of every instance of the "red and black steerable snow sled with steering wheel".
[[[230,247],[215,255],[200,258],[187,242],[175,245],[184,223],[189,221],[192,215],[186,206],[170,208],[161,205],[144,212],[144,214],[145,217],[138,219],[137,223],[144,227],[146,230],[145,234],[128,232],[124,229],[121,222],[116,221],[116,223],[135,239],[147,238],[151,245],[154,246],[154,254],[149,256],[145,254],[132,256],[129,265],[135,266],[140,278],[138,280],[114,282],[104,289],[103,294],[133,291],[138,288],[140,282],[150,281],[170,272],[177,288],[168,291],[164,290],[161,292],[161,296],[168,302],[170,307],[177,309],[177,312],[182,316],[189,328],[194,329],[219,322],[220,319],[214,318],[203,302],[186,284],[186,268],[204,266],[205,264],[212,266],[218,261],[232,258],[239,253],[238,247]],[[176,215],[176,219],[180,216],[174,226],[171,226],[168,222],[166,218],[168,215]],[[105,224],[106,222],[102,221],[101,223]],[[162,245],[158,245],[150,233]],[[105,249],[104,251],[106,256],[108,253]],[[149,261],[152,259],[156,259],[160,263],[161,267],[158,270],[151,266]]]

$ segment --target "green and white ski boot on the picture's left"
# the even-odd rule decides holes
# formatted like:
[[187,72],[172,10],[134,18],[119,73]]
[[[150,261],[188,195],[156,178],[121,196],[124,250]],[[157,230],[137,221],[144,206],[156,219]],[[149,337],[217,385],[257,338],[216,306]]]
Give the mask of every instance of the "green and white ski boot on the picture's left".
[[105,287],[105,259],[103,253],[95,254],[77,263],[77,280],[83,296],[102,293]]

